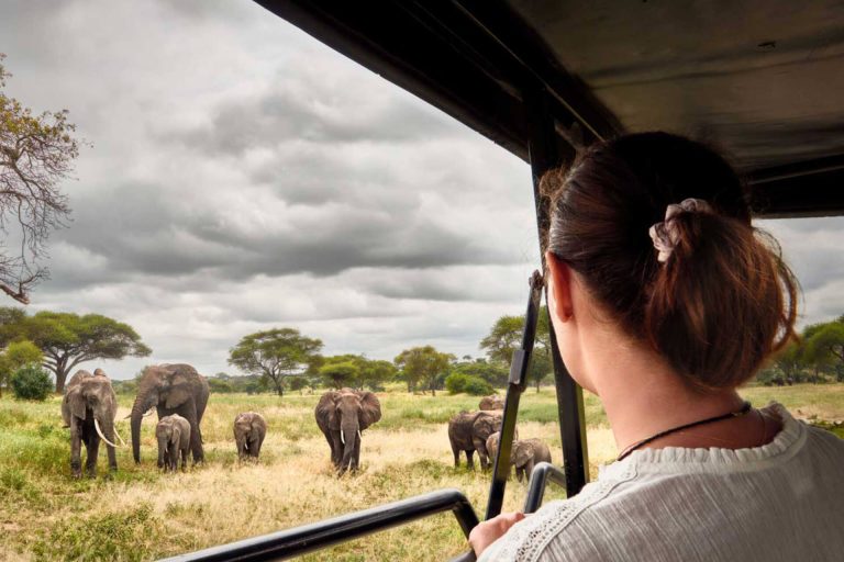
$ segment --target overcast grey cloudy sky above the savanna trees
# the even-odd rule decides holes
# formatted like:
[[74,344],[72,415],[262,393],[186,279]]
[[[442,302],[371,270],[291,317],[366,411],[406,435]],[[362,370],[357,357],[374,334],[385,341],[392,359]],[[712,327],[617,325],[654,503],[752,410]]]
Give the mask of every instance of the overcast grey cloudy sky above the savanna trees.
[[[528,166],[257,4],[7,0],[0,53],[10,94],[68,109],[91,144],[31,308],[134,326],[153,357],[104,363],[113,378],[235,372],[229,348],[274,326],[330,355],[478,356],[522,312]],[[802,322],[843,313],[844,220],[764,226]]]

